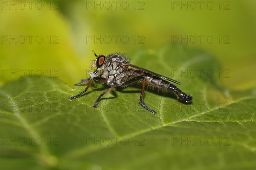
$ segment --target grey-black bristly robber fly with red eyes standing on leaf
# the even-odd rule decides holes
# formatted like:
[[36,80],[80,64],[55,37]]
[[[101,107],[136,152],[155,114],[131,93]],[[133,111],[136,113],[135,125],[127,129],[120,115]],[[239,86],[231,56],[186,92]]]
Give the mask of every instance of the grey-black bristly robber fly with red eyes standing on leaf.
[[70,97],[70,101],[84,94],[92,84],[93,80],[96,80],[100,83],[105,83],[111,87],[108,90],[104,91],[98,97],[92,108],[97,108],[97,105],[101,97],[109,91],[113,90],[115,87],[126,87],[131,83],[137,82],[139,80],[142,80],[143,82],[142,90],[140,93],[140,105],[142,105],[143,108],[147,109],[153,114],[155,114],[156,111],[149,108],[143,102],[143,95],[146,83],[153,85],[156,88],[162,88],[167,91],[172,91],[174,94],[177,95],[178,101],[183,102],[185,104],[189,104],[192,101],[192,96],[186,95],[184,92],[182,92],[180,89],[178,89],[175,85],[172,84],[176,83],[180,85],[180,82],[177,82],[174,79],[170,79],[168,77],[164,77],[160,74],[156,74],[144,68],[131,65],[128,59],[120,54],[110,54],[107,57],[105,57],[104,55],[97,56],[95,53],[94,55],[96,57],[96,61],[93,62],[92,69],[96,68],[95,71],[89,71],[88,73],[90,74],[90,78],[82,79],[81,82],[75,84],[74,87],[76,87],[77,85],[84,84],[86,82],[89,82],[89,84],[84,89],[84,91],[77,94],[76,96]]

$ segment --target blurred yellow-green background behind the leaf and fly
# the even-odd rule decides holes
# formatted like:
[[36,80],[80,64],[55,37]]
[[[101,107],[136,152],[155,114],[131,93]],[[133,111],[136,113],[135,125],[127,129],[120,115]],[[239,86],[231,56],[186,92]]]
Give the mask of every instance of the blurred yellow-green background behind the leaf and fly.
[[230,71],[226,88],[255,87],[255,16],[253,0],[1,1],[0,83],[43,73],[73,85],[87,76],[92,50],[134,59],[137,49],[173,42],[215,56]]

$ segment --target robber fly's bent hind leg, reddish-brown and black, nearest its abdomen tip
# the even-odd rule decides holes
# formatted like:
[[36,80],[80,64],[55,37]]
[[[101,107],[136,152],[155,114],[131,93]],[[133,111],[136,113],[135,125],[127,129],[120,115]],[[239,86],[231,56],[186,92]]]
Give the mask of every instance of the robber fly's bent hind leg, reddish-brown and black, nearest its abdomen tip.
[[146,79],[144,77],[144,75],[141,75],[141,76],[137,76],[137,77],[134,77],[132,79],[129,79],[127,80],[126,82],[122,83],[122,87],[125,87],[126,85],[129,85],[133,82],[136,82],[140,79],[143,79],[143,86],[142,86],[142,90],[141,90],[141,93],[140,93],[140,105],[143,106],[143,108],[147,109],[148,111],[150,111],[151,113],[153,113],[154,115],[157,113],[156,111],[153,111],[151,108],[149,108],[144,102],[143,102],[143,96],[144,96],[144,90],[145,90],[145,84],[146,84]]

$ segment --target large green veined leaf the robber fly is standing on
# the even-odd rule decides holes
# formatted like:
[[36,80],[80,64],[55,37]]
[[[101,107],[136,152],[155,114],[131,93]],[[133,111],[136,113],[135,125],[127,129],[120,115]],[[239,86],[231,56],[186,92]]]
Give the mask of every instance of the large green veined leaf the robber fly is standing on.
[[[182,82],[191,105],[141,84],[74,90],[57,78],[27,77],[1,88],[1,169],[255,169],[255,89],[221,86],[218,62],[197,49],[168,44],[140,50],[131,63]],[[210,74],[212,73],[212,74]],[[84,77],[81,77],[84,78]],[[79,80],[78,80],[79,81]]]

